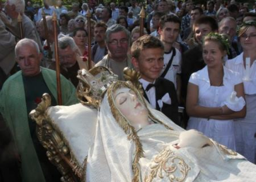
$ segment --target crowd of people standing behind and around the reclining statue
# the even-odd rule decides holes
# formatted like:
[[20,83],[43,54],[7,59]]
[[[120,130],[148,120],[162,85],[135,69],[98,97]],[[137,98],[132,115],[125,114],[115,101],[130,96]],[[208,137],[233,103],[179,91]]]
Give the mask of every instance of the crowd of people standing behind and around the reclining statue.
[[[139,38],[142,6],[146,18],[144,36]],[[91,0],[73,2],[71,9],[60,0],[56,5],[46,0],[43,5],[6,0],[0,10],[0,138],[5,138],[0,141],[0,181],[60,180],[57,171],[51,172],[55,167],[37,139],[35,122],[28,117],[43,93],[58,105],[56,44],[63,105],[79,102],[77,71],[88,70],[88,62],[92,67],[110,68],[120,81],[125,80],[125,67],[134,68],[154,109],[255,164],[255,11],[256,3],[234,0],[205,4],[192,0],[97,4]],[[10,158],[5,158],[8,154]]]

